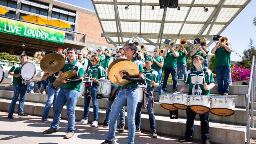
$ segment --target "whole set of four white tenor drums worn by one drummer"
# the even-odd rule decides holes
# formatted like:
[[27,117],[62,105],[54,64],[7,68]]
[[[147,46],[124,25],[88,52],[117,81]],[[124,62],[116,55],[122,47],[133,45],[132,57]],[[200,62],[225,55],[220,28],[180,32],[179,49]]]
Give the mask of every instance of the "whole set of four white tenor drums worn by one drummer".
[[230,116],[235,113],[233,97],[166,93],[159,98],[161,107],[171,111],[190,108],[198,114],[211,112],[218,116]]

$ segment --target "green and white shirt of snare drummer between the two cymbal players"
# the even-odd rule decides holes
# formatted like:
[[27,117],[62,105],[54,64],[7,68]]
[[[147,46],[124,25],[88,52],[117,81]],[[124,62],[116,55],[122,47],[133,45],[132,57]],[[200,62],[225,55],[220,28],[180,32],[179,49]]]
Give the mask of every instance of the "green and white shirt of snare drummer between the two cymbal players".
[[[103,67],[101,65],[99,65],[99,66],[98,65],[99,64],[97,64],[95,66],[91,65],[89,67],[88,72],[87,72],[88,77],[92,76],[92,78],[96,78],[96,79],[100,79],[102,77],[105,77]],[[98,68],[97,68],[97,66],[98,66]],[[98,82],[95,82],[95,83],[97,84]]]

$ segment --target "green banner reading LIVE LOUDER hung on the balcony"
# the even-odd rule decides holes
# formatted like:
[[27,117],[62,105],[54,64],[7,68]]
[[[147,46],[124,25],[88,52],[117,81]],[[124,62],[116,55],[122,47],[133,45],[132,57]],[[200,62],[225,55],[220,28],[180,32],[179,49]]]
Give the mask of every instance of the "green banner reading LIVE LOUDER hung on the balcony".
[[0,17],[0,32],[64,44],[65,31]]

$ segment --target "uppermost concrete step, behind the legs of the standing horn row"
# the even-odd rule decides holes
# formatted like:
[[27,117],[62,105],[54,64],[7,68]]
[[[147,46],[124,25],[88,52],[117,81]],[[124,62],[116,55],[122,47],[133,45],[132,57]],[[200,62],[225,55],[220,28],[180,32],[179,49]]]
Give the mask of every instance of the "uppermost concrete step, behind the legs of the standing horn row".
[[[163,86],[163,85],[162,85]],[[173,84],[167,84],[166,92],[173,92],[172,88]],[[177,91],[180,91],[182,84],[177,84]],[[247,94],[248,86],[238,86],[238,85],[231,85],[229,86],[230,95],[245,95]],[[157,92],[157,87],[154,88],[154,92]],[[185,93],[188,93],[188,88],[185,89]],[[215,85],[213,89],[211,89],[211,94],[218,94],[218,85]]]

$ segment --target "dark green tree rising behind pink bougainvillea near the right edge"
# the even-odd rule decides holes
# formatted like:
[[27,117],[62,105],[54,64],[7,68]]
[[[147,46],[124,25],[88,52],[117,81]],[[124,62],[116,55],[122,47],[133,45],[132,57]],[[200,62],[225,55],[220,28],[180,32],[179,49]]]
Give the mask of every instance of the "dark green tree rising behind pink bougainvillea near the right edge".
[[253,55],[256,55],[256,49],[255,45],[253,45],[253,40],[250,38],[250,44],[248,45],[248,49],[243,51],[241,65],[243,65],[245,68],[251,68],[251,61],[253,59]]

